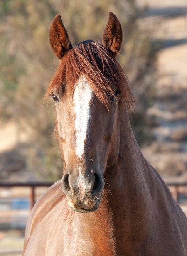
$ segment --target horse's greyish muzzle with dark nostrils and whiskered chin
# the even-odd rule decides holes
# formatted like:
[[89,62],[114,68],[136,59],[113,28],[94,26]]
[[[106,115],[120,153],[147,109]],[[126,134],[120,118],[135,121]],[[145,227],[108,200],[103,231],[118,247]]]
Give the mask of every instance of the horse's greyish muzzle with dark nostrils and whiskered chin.
[[94,212],[99,208],[103,193],[103,179],[98,173],[90,172],[86,178],[64,173],[62,190],[68,199],[69,209],[74,212]]

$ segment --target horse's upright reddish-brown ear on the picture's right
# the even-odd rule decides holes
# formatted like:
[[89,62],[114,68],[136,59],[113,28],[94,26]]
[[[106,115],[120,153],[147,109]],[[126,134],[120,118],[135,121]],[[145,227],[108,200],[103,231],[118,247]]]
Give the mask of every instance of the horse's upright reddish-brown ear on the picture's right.
[[121,49],[123,30],[116,15],[109,12],[108,23],[103,33],[103,46],[115,57]]

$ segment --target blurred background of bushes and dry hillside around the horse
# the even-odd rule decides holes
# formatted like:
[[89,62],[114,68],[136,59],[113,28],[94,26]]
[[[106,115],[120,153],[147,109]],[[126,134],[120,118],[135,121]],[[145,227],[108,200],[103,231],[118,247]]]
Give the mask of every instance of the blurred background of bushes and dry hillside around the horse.
[[21,255],[42,184],[62,177],[54,104],[43,102],[58,65],[49,26],[60,13],[72,44],[102,42],[109,11],[123,25],[118,61],[135,96],[135,137],[165,182],[177,184],[171,191],[187,210],[187,1],[1,0],[0,255]]

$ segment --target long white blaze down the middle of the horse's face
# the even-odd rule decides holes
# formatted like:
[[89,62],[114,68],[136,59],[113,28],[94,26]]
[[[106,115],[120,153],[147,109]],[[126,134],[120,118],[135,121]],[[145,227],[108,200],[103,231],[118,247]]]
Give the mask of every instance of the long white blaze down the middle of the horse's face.
[[86,132],[91,117],[90,102],[92,95],[93,91],[86,79],[84,77],[79,79],[74,91],[76,154],[79,158],[84,153],[84,141],[86,140]]

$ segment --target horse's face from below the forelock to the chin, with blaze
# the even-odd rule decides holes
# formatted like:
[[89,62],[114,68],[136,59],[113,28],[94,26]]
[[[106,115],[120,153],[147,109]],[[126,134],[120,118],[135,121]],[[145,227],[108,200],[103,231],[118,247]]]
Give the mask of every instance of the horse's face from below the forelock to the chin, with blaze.
[[73,91],[66,84],[52,97],[65,166],[62,189],[69,208],[76,212],[96,211],[103,192],[104,170],[117,158],[113,152],[117,152],[119,137],[118,91],[111,95],[107,109],[81,77]]

